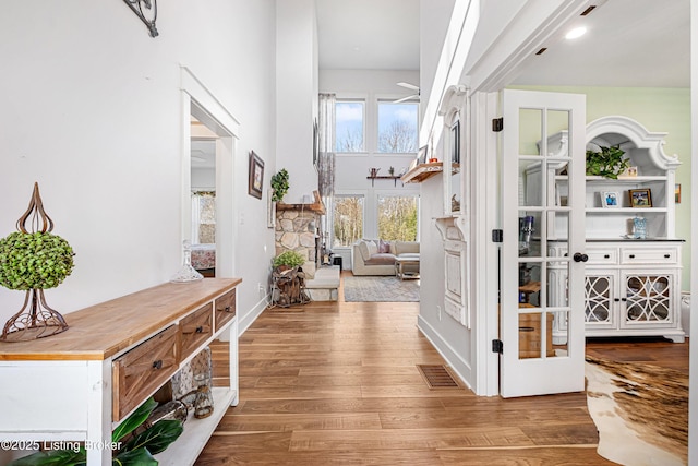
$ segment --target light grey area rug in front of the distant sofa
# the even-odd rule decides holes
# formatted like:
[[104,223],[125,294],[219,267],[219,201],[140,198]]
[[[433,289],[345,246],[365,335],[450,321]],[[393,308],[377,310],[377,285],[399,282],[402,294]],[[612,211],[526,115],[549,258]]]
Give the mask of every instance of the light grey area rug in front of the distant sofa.
[[347,302],[417,302],[419,279],[401,280],[394,276],[344,277]]

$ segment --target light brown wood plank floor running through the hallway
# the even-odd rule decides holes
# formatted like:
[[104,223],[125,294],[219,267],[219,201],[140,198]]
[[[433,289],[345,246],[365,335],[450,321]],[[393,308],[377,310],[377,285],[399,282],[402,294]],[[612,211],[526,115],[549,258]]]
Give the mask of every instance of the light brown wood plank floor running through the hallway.
[[[418,312],[419,303],[341,301],[265,311],[239,342],[240,404],[196,464],[613,464],[595,453],[585,393],[503,399],[430,390],[417,365],[444,361],[417,330]],[[213,350],[217,360],[227,353]],[[587,350],[688,371],[688,344],[594,342]]]

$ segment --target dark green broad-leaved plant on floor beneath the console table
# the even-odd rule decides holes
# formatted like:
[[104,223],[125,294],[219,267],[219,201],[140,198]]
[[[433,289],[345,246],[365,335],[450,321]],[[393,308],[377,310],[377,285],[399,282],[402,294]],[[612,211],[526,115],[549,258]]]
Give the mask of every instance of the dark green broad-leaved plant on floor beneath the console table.
[[[139,430],[146,421],[157,402],[149,398],[129,416],[111,433],[111,441],[117,445],[112,454],[112,466],[157,466],[153,457],[165,451],[184,428],[179,420],[164,419],[144,430]],[[84,447],[74,450],[50,450],[37,452],[15,459],[9,466],[84,466],[87,452]]]

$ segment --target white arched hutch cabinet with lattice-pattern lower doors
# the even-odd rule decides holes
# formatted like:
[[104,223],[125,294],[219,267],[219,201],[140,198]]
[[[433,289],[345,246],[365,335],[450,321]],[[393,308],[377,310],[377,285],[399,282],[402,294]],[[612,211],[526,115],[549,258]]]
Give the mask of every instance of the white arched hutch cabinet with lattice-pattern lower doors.
[[[630,174],[617,180],[587,176],[586,182],[586,335],[660,335],[684,342],[681,326],[681,272],[683,240],[675,237],[674,183],[681,164],[664,154],[666,133],[651,133],[637,121],[611,116],[587,126],[587,148],[619,146],[630,160]],[[549,147],[567,151],[567,134],[549,140]],[[565,167],[547,174],[549,195],[566,205]],[[539,167],[529,168],[527,183],[541,181]],[[633,206],[629,191],[649,190],[649,205]],[[528,193],[527,193],[528,194]],[[615,199],[615,203],[603,200]],[[615,204],[615,205],[614,205]],[[645,203],[642,203],[645,204]],[[636,239],[634,219],[645,219],[647,236]],[[553,229],[565,223],[553,222]],[[552,231],[555,237],[555,231]],[[566,235],[558,231],[561,238]],[[567,254],[566,244],[547,240],[550,256]],[[582,259],[582,260],[583,260]],[[564,303],[567,277],[563,267],[549,267],[551,302]],[[555,319],[553,343],[564,344],[566,322]]]

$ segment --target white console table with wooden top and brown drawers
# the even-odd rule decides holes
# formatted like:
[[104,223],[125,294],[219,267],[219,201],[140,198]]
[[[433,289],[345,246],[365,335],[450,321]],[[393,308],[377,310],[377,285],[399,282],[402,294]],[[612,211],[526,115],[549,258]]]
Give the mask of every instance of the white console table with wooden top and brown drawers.
[[[240,278],[167,283],[65,315],[69,330],[0,343],[0,441],[81,441],[89,466],[111,464],[111,432],[218,337],[230,340],[230,382],[214,387],[214,414],[190,419],[156,458],[193,464],[226,408],[238,403]],[[215,374],[214,374],[215,375]]]

